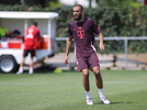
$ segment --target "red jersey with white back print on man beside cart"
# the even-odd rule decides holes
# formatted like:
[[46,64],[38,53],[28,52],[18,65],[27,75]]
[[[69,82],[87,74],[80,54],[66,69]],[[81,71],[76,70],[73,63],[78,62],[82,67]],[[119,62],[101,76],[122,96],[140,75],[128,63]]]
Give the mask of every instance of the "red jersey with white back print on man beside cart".
[[35,26],[29,28],[24,40],[24,50],[36,50],[38,38],[39,30]]

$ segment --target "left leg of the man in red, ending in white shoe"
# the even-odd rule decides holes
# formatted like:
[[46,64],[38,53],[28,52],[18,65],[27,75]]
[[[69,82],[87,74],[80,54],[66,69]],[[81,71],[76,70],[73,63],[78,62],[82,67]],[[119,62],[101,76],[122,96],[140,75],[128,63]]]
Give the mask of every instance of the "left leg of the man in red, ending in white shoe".
[[20,74],[23,73],[23,65],[24,65],[25,57],[27,56],[27,54],[29,54],[29,51],[27,51],[27,50],[24,50],[24,51],[23,51],[22,62],[21,62],[21,64],[20,64],[19,72],[16,73],[18,75],[20,75]]

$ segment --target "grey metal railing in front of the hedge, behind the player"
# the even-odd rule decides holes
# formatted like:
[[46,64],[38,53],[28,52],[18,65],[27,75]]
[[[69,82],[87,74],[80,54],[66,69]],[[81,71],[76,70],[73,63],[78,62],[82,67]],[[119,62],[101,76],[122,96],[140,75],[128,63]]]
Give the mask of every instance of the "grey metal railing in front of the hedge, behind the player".
[[[56,41],[67,41],[68,37],[56,37]],[[104,41],[124,41],[124,52],[125,52],[125,69],[127,70],[127,43],[128,41],[135,40],[147,40],[147,36],[129,36],[129,37],[104,37]],[[99,41],[99,37],[95,37],[95,41]],[[70,67],[70,62],[68,67]]]

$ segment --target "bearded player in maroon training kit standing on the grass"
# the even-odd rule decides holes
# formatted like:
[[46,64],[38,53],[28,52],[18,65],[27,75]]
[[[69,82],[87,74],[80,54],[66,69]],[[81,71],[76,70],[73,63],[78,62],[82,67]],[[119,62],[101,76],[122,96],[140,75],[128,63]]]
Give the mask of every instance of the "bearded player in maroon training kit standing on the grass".
[[82,72],[83,76],[82,81],[87,97],[87,105],[93,105],[90,95],[89,69],[94,73],[100,101],[104,105],[109,105],[110,101],[105,99],[103,95],[103,81],[100,73],[99,58],[97,56],[94,42],[94,34],[98,34],[100,38],[99,47],[100,50],[104,51],[103,35],[98,24],[92,19],[83,18],[82,13],[82,6],[76,4],[74,7],[75,21],[72,21],[68,28],[69,37],[67,41],[64,63],[68,64],[68,54],[74,38],[75,52],[78,62],[78,72]]

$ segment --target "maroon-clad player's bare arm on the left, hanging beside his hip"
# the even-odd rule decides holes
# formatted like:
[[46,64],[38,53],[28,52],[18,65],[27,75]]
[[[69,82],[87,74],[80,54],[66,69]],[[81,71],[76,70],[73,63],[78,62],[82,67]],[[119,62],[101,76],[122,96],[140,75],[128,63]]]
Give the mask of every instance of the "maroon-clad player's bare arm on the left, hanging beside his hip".
[[65,59],[64,59],[65,64],[68,64],[68,54],[69,54],[70,47],[71,47],[71,43],[72,43],[72,38],[68,37],[67,46],[66,46],[66,56],[65,56]]

